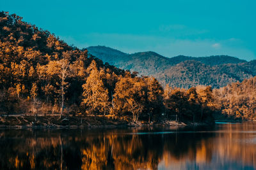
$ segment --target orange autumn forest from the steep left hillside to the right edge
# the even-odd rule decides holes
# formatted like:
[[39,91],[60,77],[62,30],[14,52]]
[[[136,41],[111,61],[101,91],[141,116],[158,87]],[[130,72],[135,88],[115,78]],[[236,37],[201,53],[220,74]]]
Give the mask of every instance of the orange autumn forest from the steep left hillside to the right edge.
[[[213,113],[236,111],[239,115],[238,111],[240,117],[251,119],[255,103],[242,102],[254,110],[247,115],[237,102],[238,98],[254,99],[252,92],[244,94],[246,82],[251,80],[224,90],[211,86],[179,89],[171,83],[163,88],[156,78],[104,64],[87,50],[67,45],[22,17],[0,12],[1,115],[113,115],[129,122],[212,122]],[[255,91],[255,86],[250,87]],[[236,88],[240,94],[235,94]],[[242,94],[248,98],[237,97]]]

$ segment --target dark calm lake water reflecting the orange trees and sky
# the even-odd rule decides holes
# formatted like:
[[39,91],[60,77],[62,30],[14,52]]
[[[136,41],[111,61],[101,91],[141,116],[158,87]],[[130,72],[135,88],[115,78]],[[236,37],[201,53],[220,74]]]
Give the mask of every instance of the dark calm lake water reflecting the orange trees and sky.
[[0,130],[0,169],[256,169],[256,124]]

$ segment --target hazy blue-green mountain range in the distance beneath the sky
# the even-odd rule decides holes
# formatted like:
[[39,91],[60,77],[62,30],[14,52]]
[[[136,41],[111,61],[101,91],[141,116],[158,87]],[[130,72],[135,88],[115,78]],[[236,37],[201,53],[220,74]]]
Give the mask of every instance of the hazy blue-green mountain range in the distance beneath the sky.
[[122,69],[154,76],[162,85],[190,88],[196,85],[224,87],[229,83],[256,76],[256,61],[228,55],[210,57],[164,57],[156,52],[124,53],[106,46],[90,46],[88,53]]

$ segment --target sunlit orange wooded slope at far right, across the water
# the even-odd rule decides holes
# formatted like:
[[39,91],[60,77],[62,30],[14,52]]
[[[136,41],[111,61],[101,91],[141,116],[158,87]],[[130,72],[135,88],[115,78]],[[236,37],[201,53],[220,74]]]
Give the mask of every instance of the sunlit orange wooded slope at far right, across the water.
[[214,89],[214,97],[216,109],[223,115],[246,120],[256,118],[256,76]]

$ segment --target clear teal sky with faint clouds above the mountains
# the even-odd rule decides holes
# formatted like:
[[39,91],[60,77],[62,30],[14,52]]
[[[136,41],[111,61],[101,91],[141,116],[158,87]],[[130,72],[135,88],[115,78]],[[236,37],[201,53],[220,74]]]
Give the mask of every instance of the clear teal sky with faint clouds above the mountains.
[[255,0],[0,0],[0,10],[78,48],[256,59]]

